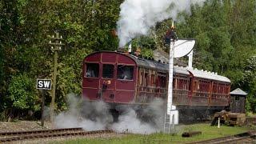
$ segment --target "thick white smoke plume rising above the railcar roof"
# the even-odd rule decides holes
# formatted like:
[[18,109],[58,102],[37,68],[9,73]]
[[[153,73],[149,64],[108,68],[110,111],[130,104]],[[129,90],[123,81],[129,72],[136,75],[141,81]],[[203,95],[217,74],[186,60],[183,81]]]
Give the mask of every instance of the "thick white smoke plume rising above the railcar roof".
[[118,25],[119,47],[132,38],[148,34],[150,27],[167,18],[177,17],[178,12],[190,13],[190,5],[204,0],[125,0],[120,6]]

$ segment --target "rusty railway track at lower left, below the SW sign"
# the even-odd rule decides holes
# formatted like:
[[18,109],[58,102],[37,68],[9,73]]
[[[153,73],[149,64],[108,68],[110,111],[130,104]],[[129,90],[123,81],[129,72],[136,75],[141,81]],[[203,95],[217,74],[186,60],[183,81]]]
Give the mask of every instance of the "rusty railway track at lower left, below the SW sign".
[[82,128],[6,132],[0,133],[0,143],[31,140],[38,138],[58,138],[68,136],[84,136],[91,134],[106,134],[112,132],[112,130],[84,131],[82,130]]

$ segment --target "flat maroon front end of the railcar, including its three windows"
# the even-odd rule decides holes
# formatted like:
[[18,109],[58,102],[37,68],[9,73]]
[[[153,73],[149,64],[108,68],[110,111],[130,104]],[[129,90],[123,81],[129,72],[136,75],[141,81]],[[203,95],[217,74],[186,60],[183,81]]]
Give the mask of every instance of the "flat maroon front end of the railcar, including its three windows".
[[134,102],[138,66],[133,58],[116,52],[97,52],[88,55],[83,63],[83,97],[114,103]]

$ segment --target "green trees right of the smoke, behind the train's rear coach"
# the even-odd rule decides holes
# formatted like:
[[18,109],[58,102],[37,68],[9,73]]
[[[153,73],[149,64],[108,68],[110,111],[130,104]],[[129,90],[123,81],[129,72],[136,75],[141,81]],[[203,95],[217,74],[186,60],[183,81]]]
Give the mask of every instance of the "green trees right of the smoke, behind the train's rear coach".
[[[255,7],[254,0],[208,0],[203,6],[192,5],[190,14],[178,14],[175,22],[178,38],[196,39],[194,67],[230,78],[231,90],[240,87],[248,91],[250,110],[256,110],[254,78],[250,75],[254,73],[246,72],[250,66],[246,59],[256,55]],[[156,26],[158,48],[164,46],[161,38],[170,26],[170,20]]]

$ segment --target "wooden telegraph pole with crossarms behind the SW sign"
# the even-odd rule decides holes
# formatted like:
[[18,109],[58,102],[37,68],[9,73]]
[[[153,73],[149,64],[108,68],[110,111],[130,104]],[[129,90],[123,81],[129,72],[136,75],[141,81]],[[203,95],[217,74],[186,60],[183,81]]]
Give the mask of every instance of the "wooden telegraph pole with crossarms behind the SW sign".
[[55,93],[56,93],[56,77],[57,77],[57,67],[58,67],[58,51],[62,50],[64,44],[62,44],[62,36],[59,36],[58,32],[55,32],[55,36],[51,37],[51,41],[49,42],[51,46],[51,50],[54,52],[54,78],[53,78],[53,90],[51,94],[51,102],[50,102],[50,122],[54,121],[54,101],[55,101]]

